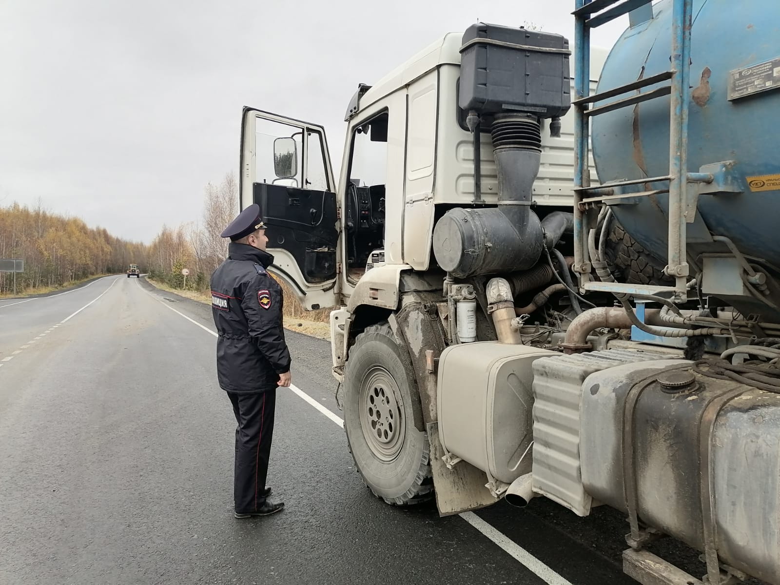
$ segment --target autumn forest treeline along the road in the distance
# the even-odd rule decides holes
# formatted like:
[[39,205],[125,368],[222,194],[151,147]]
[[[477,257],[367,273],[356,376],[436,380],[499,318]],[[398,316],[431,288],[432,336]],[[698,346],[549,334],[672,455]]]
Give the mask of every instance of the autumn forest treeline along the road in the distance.
[[[0,258],[21,259],[16,293],[57,289],[84,279],[122,273],[139,264],[169,285],[181,288],[183,268],[190,270],[188,289],[206,289],[211,272],[227,254],[220,237],[238,213],[238,185],[229,173],[222,183],[204,189],[202,221],[163,226],[150,244],[112,236],[104,228],[90,228],[80,218],[30,208],[18,203],[0,207]],[[13,293],[14,275],[0,272],[0,295]]]

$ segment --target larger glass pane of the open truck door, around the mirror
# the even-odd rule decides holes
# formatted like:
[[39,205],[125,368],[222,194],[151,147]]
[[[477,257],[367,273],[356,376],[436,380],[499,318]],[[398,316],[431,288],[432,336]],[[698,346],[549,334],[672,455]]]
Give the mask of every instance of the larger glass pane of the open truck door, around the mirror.
[[[293,172],[291,176],[278,176],[275,161],[276,140],[292,138],[295,148],[289,148],[285,157],[292,161],[284,161]],[[278,157],[278,154],[277,154]],[[303,131],[295,126],[288,126],[282,122],[275,122],[263,118],[257,119],[255,129],[255,181],[257,183],[272,183],[288,187],[305,187],[302,185],[303,177]]]

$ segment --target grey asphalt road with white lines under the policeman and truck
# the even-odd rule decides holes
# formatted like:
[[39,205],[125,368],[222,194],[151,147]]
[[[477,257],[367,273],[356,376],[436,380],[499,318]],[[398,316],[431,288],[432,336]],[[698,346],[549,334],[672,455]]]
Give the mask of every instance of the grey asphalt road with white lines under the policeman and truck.
[[0,583],[636,583],[606,508],[441,519],[378,501],[346,450],[328,342],[293,332],[300,394],[278,392],[268,473],[286,509],[234,519],[213,328],[209,307],[124,276],[0,302]]

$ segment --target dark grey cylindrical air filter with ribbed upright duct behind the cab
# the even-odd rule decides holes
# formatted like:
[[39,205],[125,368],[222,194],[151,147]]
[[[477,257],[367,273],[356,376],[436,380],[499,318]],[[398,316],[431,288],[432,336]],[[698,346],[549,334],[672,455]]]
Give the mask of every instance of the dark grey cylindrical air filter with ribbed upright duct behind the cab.
[[498,207],[456,207],[434,228],[436,261],[457,278],[527,270],[544,246],[541,222],[530,208],[541,160],[539,120],[527,114],[498,114],[491,136]]

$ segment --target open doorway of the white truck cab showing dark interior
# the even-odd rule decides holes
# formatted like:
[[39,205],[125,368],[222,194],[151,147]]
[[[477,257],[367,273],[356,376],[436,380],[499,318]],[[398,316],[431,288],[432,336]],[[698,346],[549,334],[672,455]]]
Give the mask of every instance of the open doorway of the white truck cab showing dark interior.
[[351,137],[346,187],[346,247],[348,276],[353,280],[360,278],[366,270],[372,253],[379,254],[385,245],[387,137],[387,112],[358,126]]

